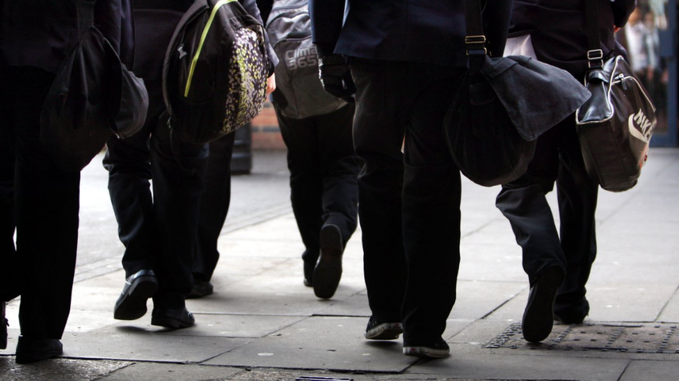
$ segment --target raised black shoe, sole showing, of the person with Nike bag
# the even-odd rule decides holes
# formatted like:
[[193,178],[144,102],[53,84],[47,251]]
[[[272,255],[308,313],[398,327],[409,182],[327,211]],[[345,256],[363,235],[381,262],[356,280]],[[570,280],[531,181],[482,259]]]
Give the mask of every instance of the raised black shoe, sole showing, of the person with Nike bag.
[[547,339],[554,325],[554,299],[564,279],[564,271],[558,266],[544,269],[531,287],[528,304],[523,313],[521,329],[527,341],[537,343]]

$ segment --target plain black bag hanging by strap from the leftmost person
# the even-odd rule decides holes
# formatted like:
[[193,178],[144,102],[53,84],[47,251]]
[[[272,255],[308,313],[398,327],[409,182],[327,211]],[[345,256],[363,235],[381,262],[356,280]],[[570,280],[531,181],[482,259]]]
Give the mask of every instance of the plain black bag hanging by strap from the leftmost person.
[[148,94],[93,23],[94,1],[78,0],[75,49],[56,73],[40,113],[40,143],[65,171],[80,171],[111,137],[141,130]]

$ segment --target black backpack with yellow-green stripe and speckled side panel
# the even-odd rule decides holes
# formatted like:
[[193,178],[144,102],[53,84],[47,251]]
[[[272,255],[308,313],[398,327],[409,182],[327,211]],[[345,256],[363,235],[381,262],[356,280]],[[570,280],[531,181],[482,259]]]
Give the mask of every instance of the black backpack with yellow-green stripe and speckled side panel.
[[267,62],[264,27],[238,1],[196,0],[163,62],[173,142],[207,143],[256,117],[266,99]]

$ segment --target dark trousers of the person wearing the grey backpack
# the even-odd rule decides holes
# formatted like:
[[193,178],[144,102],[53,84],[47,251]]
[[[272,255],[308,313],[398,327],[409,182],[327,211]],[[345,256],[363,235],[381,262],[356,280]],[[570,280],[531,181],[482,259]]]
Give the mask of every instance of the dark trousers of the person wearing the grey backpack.
[[358,226],[356,177],[362,160],[351,138],[355,106],[304,119],[286,117],[274,108],[287,146],[290,199],[305,247],[302,259],[316,262],[323,225],[340,228],[344,246]]

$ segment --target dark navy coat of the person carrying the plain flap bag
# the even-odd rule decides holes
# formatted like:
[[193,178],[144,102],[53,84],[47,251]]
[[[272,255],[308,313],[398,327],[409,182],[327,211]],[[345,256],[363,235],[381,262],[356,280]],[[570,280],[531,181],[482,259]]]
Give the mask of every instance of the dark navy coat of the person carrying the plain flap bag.
[[[465,66],[463,0],[310,0],[314,42],[327,50],[376,60]],[[488,0],[491,51],[504,50],[511,0]]]

